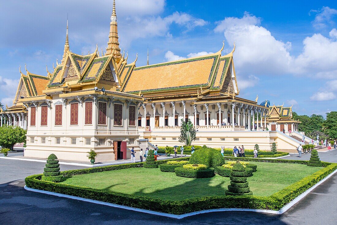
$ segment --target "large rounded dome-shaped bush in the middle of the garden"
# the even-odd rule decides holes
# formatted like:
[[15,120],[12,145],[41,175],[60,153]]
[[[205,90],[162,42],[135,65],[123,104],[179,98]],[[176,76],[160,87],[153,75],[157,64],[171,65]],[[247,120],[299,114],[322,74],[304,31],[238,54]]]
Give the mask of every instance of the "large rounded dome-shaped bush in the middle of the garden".
[[210,167],[221,166],[225,163],[220,151],[214,148],[201,148],[195,150],[189,159],[190,164],[204,164]]

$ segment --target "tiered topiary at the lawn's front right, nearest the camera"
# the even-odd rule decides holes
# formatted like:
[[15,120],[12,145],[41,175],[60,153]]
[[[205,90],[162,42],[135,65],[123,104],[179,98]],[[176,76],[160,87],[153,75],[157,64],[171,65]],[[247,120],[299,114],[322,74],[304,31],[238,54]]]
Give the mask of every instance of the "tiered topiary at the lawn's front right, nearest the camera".
[[246,169],[241,163],[233,166],[229,179],[231,179],[231,185],[228,185],[226,195],[253,195],[249,191]]

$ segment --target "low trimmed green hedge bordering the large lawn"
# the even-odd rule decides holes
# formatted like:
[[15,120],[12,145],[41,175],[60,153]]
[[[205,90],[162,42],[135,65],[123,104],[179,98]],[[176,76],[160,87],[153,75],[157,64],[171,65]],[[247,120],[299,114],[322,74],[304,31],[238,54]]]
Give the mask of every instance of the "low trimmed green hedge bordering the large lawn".
[[[181,158],[187,160],[186,158]],[[175,159],[178,160],[178,159]],[[227,159],[230,160],[230,159]],[[271,160],[271,159],[250,159],[243,158],[240,160],[255,161],[255,162],[273,162],[273,163],[298,163],[306,164],[300,160]],[[158,164],[166,163],[169,160],[158,160]],[[298,161],[298,162],[294,162]],[[322,162],[325,168],[304,177],[292,185],[274,193],[271,196],[205,196],[200,198],[192,198],[180,201],[166,201],[143,196],[135,196],[131,194],[122,194],[118,192],[99,190],[87,187],[79,187],[67,185],[63,183],[54,183],[41,180],[42,174],[36,174],[26,177],[26,186],[33,189],[57,192],[66,195],[72,195],[82,198],[88,198],[113,204],[125,205],[135,208],[154,210],[156,212],[170,214],[185,214],[200,210],[216,209],[216,208],[255,208],[255,209],[270,209],[279,210],[284,205],[298,197],[300,194],[311,188],[317,182],[325,178],[327,175],[337,169],[337,163]],[[144,163],[132,163],[112,165],[105,167],[93,167],[80,170],[69,170],[61,172],[63,176],[72,176],[79,174],[95,173],[102,171],[111,171],[127,168],[143,167]],[[237,177],[240,179],[240,177]],[[239,181],[244,182],[244,181]]]

